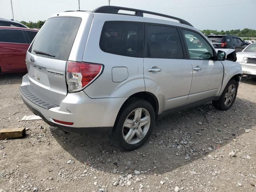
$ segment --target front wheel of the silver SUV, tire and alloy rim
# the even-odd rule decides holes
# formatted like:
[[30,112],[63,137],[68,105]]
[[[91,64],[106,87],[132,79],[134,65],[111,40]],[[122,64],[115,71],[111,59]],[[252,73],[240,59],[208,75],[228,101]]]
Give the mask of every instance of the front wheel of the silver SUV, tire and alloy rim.
[[[231,91],[230,88],[233,91]],[[234,88],[235,88],[235,90],[234,90]],[[219,110],[228,110],[233,105],[234,101],[236,100],[237,88],[238,88],[238,84],[237,84],[236,80],[231,79],[228,82],[228,84],[226,85],[219,100],[212,101],[213,106]]]

